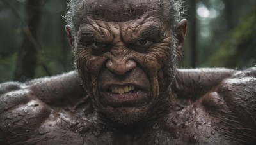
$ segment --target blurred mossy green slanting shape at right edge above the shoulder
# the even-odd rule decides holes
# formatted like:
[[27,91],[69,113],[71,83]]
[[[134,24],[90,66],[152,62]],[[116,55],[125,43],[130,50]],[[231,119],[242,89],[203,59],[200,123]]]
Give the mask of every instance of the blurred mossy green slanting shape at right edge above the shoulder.
[[212,66],[252,67],[256,64],[256,5],[212,56]]

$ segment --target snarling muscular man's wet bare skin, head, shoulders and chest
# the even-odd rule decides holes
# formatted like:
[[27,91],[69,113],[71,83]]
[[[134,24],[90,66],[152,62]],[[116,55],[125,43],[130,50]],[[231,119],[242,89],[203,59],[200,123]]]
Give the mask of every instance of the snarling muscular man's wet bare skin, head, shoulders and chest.
[[174,36],[164,3],[114,2],[67,25],[78,74],[0,85],[0,142],[255,144],[256,68],[175,70],[186,20]]

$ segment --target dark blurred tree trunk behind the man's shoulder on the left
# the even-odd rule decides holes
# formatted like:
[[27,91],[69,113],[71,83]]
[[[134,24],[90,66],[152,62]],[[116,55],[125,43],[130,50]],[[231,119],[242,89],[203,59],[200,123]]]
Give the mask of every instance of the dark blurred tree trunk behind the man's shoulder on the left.
[[14,79],[26,81],[35,75],[40,45],[37,42],[38,27],[42,15],[42,0],[28,0],[26,3],[23,41],[17,56]]

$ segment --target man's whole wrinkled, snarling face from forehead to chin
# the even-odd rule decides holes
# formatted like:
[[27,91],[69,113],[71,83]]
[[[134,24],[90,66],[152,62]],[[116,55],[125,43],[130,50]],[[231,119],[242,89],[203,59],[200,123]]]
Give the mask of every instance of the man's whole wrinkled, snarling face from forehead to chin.
[[129,124],[150,115],[175,69],[175,36],[159,1],[86,1],[73,49],[97,111]]

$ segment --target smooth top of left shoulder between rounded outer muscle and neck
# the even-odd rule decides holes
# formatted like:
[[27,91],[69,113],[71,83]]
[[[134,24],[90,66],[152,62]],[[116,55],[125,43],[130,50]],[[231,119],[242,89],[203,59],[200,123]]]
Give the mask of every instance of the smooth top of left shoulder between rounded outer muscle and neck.
[[81,97],[86,95],[79,83],[76,71],[34,79],[27,84],[38,99],[51,106],[76,104]]

